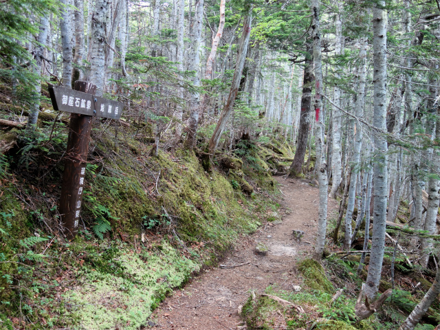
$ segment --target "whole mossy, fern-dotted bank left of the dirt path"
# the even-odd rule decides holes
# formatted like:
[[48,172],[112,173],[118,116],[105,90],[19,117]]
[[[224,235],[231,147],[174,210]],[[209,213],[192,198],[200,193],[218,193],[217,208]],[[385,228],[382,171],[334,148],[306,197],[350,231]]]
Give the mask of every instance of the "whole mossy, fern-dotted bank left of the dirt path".
[[94,121],[72,242],[58,212],[65,123],[14,131],[0,158],[0,329],[139,329],[278,208],[271,169],[293,157],[284,142],[239,142],[237,168],[214,159],[208,172],[181,144],[151,156],[151,125],[131,125]]

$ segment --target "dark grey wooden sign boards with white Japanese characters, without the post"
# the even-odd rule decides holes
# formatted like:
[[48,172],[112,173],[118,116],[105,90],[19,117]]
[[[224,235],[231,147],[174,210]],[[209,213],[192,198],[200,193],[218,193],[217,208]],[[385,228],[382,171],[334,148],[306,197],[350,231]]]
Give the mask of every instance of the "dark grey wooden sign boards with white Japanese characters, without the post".
[[121,102],[65,87],[49,86],[49,94],[54,110],[58,111],[118,120],[124,109],[124,104]]

